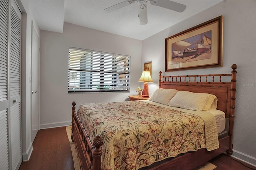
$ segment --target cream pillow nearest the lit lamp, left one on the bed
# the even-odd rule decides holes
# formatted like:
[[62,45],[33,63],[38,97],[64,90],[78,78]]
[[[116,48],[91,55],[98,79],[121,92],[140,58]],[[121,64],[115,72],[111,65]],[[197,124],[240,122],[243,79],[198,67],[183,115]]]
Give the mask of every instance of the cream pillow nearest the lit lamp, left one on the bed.
[[177,92],[176,89],[156,89],[148,100],[167,105]]

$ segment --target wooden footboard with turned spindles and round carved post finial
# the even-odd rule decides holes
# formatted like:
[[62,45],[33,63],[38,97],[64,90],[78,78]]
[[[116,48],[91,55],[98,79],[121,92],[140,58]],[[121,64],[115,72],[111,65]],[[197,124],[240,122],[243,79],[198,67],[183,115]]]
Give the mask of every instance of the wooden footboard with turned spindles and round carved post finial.
[[[76,146],[76,153],[80,170],[100,170],[101,168],[101,146],[103,140],[100,135],[91,142],[88,134],[76,114],[76,102],[72,103],[72,128],[71,139]],[[93,145],[92,145],[93,144]]]

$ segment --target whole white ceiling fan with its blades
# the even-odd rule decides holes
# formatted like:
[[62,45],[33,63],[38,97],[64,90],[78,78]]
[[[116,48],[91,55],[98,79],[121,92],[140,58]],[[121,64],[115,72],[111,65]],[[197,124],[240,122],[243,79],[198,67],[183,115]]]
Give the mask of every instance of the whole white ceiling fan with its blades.
[[170,0],[126,0],[124,2],[120,2],[113,6],[110,6],[104,9],[105,12],[112,12],[114,10],[118,10],[125,6],[128,6],[134,2],[139,2],[139,15],[140,17],[140,25],[145,25],[148,23],[148,11],[147,11],[147,2],[150,2],[151,5],[160,6],[162,8],[166,8],[169,10],[174,10],[177,12],[183,12],[186,9],[186,5],[180,4],[178,2],[170,1]]

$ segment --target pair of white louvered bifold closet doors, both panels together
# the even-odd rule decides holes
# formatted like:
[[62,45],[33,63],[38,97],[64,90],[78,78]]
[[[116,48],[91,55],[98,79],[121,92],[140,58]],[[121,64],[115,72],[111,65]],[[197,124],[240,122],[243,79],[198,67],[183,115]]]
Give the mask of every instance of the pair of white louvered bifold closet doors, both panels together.
[[22,162],[21,12],[14,1],[0,0],[0,15],[0,170],[15,170]]

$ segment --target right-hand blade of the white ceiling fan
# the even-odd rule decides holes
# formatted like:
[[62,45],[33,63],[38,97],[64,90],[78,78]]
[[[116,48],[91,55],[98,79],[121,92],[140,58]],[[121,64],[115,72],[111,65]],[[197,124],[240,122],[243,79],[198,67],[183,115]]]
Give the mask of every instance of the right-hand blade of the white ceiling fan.
[[170,0],[150,0],[150,4],[155,6],[160,6],[169,10],[183,12],[186,9],[186,5],[180,4],[178,2],[173,2]]

